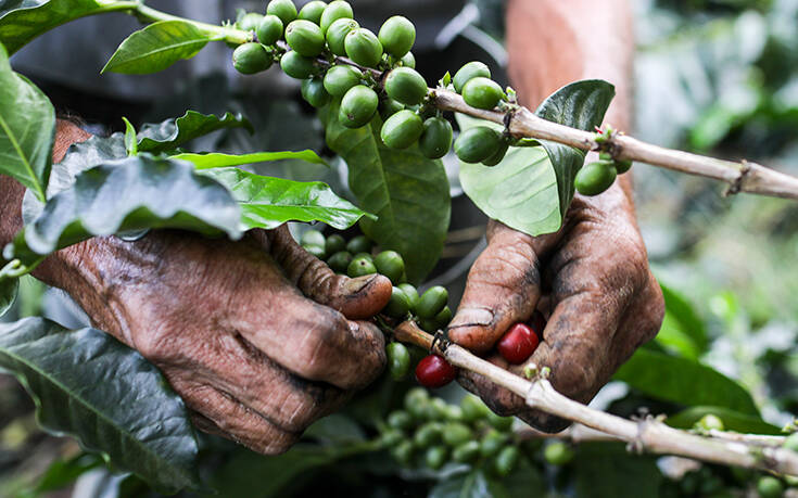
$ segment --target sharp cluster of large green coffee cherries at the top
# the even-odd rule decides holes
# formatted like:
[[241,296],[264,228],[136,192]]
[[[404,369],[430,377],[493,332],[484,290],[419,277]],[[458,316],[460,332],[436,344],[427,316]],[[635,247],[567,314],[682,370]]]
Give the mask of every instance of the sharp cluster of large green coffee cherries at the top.
[[353,15],[343,0],[312,1],[299,12],[291,0],[271,0],[266,15],[238,21],[257,41],[236,48],[233,66],[250,75],[279,62],[287,75],[303,80],[302,97],[314,107],[340,99],[343,126],[360,128],[379,112],[388,148],[418,143],[427,157],[443,157],[452,148],[452,125],[427,102],[429,88],[410,52],[416,27],[394,15],[375,35]]

